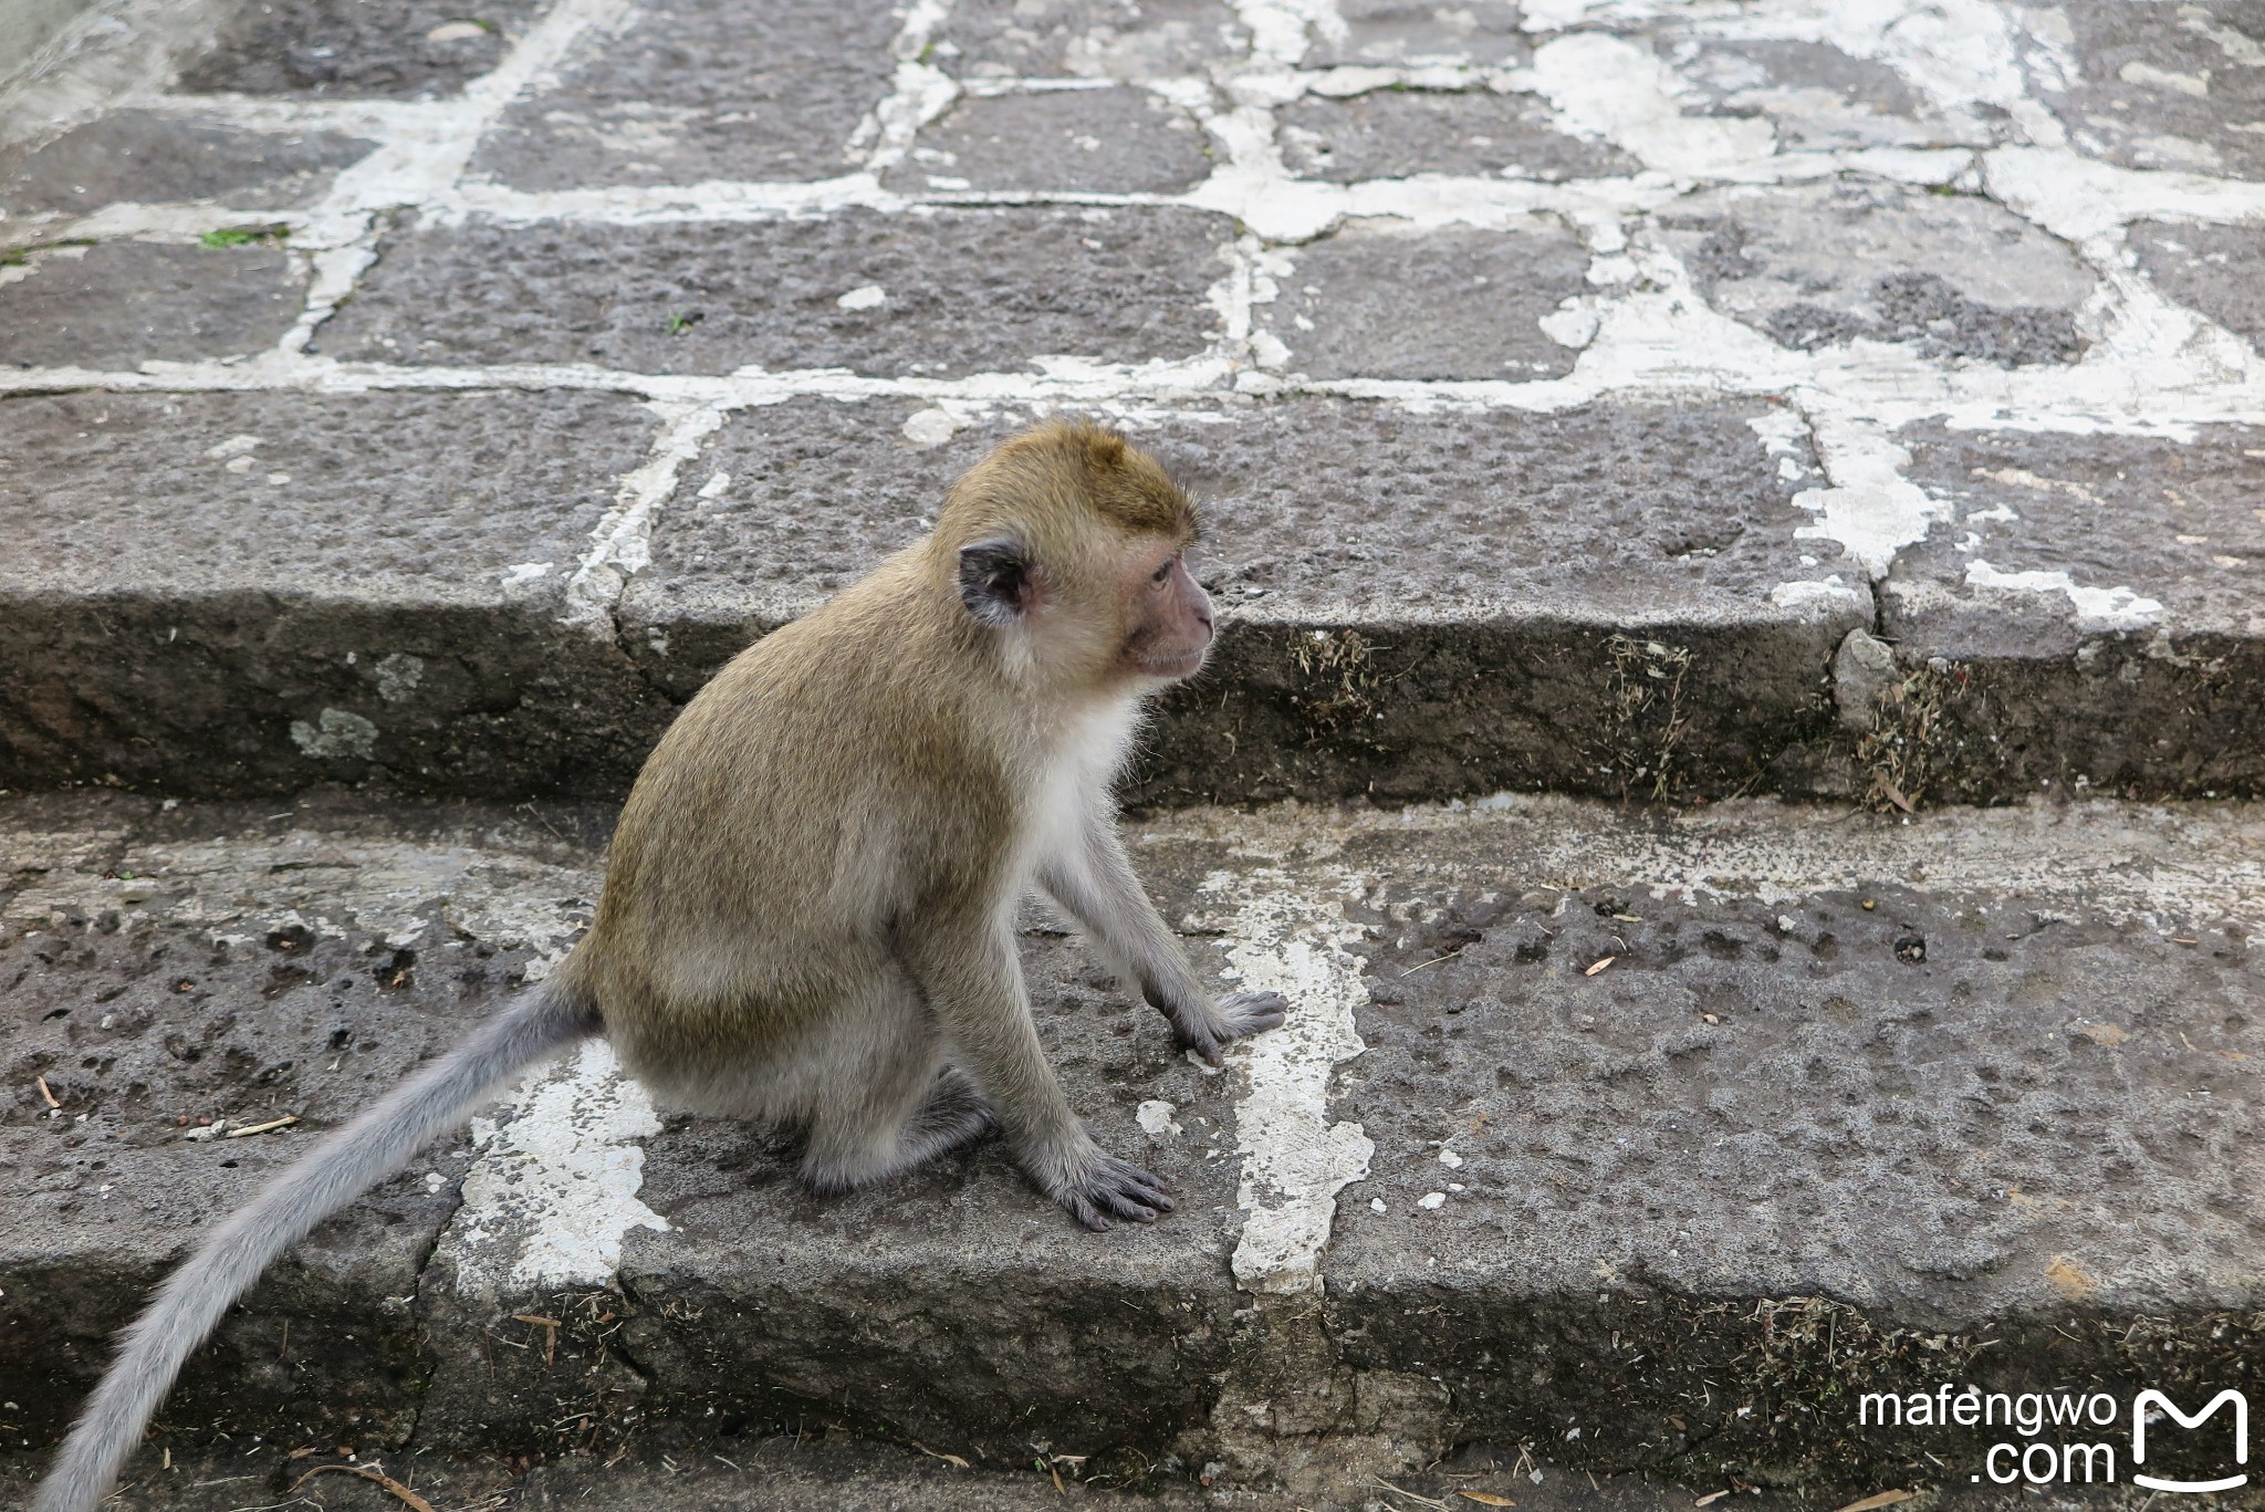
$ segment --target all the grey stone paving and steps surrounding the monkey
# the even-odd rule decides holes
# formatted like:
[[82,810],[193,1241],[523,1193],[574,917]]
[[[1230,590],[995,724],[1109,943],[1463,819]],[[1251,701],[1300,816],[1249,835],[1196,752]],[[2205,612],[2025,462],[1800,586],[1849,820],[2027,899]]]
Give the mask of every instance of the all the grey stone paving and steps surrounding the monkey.
[[1031,920],[1182,1211],[820,1204],[591,1052],[281,1265],[131,1505],[806,1505],[666,1458],[802,1421],[924,1455],[856,1505],[1961,1492],[1853,1399],[2247,1381],[2254,5],[95,0],[0,211],[0,1444],[1060,410],[1207,501],[1137,852],[1298,1002],[1203,1074]]

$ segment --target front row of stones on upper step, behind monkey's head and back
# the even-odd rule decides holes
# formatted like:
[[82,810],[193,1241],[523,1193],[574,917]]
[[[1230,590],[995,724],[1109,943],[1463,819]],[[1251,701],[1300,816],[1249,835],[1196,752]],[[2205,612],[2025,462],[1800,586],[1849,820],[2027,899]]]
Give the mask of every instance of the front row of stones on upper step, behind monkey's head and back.
[[[913,399],[691,426],[648,410],[600,392],[7,401],[0,784],[618,796],[732,653],[915,540],[951,476],[1028,419],[1003,408],[915,449],[901,431],[940,410]],[[2251,596],[2195,589],[2177,635],[2091,632],[2036,594],[1966,587],[1937,546],[1878,598],[1789,596],[1817,458],[1769,440],[1780,417],[1180,406],[1142,440],[1214,501],[1203,574],[1228,619],[1214,666],[1164,698],[1130,796],[2256,791]],[[2145,515],[2143,481],[2179,467],[2181,496],[2238,528],[2258,435],[1932,433],[1912,453],[1961,508],[2025,521],[2052,490]],[[2159,576],[2181,574],[2165,558]]]

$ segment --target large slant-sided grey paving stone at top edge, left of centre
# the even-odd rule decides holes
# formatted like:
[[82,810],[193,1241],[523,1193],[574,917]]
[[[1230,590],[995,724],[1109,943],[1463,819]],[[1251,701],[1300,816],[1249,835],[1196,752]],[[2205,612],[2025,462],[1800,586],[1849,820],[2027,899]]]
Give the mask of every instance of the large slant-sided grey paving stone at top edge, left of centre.
[[589,34],[471,159],[512,188],[831,179],[888,95],[888,0],[657,0]]

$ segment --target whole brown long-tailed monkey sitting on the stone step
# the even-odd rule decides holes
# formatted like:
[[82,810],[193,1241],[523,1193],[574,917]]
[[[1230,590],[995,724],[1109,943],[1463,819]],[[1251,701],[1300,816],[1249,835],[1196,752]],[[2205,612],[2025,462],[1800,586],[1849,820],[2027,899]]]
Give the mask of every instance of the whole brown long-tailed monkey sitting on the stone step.
[[1214,1065],[1287,1018],[1277,993],[1203,988],[1117,832],[1146,700],[1214,642],[1194,537],[1155,458],[1055,419],[967,469],[924,540],[741,651],[632,784],[566,959],[172,1272],[34,1512],[100,1503],[190,1351],[276,1256],[593,1036],[664,1104],[800,1129],[820,1195],[997,1131],[1089,1229],[1169,1213],[1164,1183],[1071,1111],[1015,923],[1046,893]]

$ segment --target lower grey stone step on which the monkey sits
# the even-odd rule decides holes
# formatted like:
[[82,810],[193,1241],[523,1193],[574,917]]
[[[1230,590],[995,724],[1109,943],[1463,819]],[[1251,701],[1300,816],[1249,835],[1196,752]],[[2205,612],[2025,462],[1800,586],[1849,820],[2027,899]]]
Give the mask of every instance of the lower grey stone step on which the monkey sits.
[[[54,1437],[199,1226],[566,948],[607,821],[0,805],[7,1439]],[[2029,1442],[1866,1394],[2104,1392],[2127,1476],[2136,1392],[2249,1378],[2251,807],[1504,796],[1130,839],[1203,975],[1296,1004],[1205,1074],[1026,927],[1071,1099],[1166,1222],[1083,1233],[997,1145],[818,1201],[589,1050],[279,1265],[159,1444],[609,1458],[802,1415],[1307,1505],[1456,1446],[1862,1494]],[[222,1124],[267,1131],[188,1138]]]

